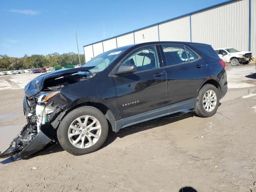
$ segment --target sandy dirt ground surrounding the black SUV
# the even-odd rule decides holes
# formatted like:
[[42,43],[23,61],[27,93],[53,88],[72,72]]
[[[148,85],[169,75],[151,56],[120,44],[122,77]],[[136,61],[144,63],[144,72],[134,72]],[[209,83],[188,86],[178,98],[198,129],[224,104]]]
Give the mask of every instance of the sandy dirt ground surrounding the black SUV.
[[[226,70],[229,92],[256,88],[255,64]],[[24,92],[2,86],[4,78],[2,151],[26,123]],[[226,99],[210,118],[179,113],[110,133],[92,154],[72,156],[56,144],[26,160],[0,160],[0,191],[186,192],[190,186],[198,192],[256,192],[255,115],[256,94],[245,92]]]

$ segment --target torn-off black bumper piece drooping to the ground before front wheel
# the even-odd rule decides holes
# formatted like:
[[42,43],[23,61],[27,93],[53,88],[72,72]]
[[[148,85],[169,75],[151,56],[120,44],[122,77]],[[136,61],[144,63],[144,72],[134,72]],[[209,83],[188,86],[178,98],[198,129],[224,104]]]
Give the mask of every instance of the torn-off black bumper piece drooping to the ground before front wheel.
[[52,139],[48,137],[49,135],[46,136],[47,133],[44,134],[42,130],[37,133],[36,129],[36,126],[25,125],[20,134],[14,138],[10,147],[2,154],[0,152],[0,158],[9,156],[26,158],[33,153],[40,151],[52,141]]

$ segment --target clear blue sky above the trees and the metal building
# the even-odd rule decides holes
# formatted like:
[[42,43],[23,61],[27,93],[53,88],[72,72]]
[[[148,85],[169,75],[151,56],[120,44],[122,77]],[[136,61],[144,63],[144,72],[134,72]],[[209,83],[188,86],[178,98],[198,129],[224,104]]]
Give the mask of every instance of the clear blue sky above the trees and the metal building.
[[1,0],[0,54],[77,52],[83,46],[226,0]]

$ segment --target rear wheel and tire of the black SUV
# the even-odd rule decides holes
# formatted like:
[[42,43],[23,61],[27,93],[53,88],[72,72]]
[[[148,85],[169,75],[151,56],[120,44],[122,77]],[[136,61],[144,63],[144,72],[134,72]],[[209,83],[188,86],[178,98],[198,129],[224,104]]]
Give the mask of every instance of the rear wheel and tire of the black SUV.
[[219,104],[219,90],[212,84],[205,84],[198,93],[195,113],[200,117],[213,116],[216,113]]

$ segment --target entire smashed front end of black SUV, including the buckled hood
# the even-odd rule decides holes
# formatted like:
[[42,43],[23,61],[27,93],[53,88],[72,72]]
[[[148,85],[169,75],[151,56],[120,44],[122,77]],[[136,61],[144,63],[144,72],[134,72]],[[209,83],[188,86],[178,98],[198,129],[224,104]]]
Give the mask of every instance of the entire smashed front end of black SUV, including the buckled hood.
[[52,98],[59,95],[64,86],[92,77],[90,72],[77,75],[77,72],[88,71],[90,68],[59,70],[38,76],[29,82],[25,87],[23,100],[28,124],[14,138],[10,147],[5,152],[0,152],[0,158],[26,158],[42,150],[47,144],[55,143],[56,129],[67,110]]

